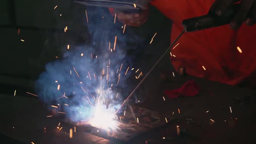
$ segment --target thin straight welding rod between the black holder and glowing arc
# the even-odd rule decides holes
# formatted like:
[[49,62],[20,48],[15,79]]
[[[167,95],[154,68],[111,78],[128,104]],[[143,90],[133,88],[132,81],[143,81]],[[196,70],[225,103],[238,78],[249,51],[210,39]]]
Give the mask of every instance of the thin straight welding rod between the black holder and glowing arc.
[[180,37],[183,35],[183,33],[185,32],[185,30],[183,30],[181,32],[181,34],[174,40],[173,43],[171,43],[171,45],[166,49],[166,51],[163,53],[163,55],[158,59],[158,61],[153,65],[153,67],[149,70],[149,72],[147,73],[147,75],[144,76],[144,78],[141,80],[141,82],[138,83],[138,85],[134,88],[134,90],[131,92],[131,94],[125,99],[125,101],[122,103],[122,105],[115,111],[116,115],[118,113],[118,111],[125,105],[125,103],[128,101],[129,98],[131,98],[131,95],[137,90],[137,88],[141,85],[141,83],[147,78],[147,76],[151,73],[151,71],[155,68],[156,65],[158,65],[158,63],[161,61],[161,59],[163,59],[164,55],[171,49],[171,47],[174,46],[174,44],[177,42],[178,39],[180,39]]

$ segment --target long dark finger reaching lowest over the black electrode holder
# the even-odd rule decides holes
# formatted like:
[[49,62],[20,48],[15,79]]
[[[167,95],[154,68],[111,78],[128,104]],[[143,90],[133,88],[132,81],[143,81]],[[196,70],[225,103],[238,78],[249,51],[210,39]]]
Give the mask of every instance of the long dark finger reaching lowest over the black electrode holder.
[[254,0],[243,0],[241,2],[239,10],[236,12],[236,15],[230,23],[231,29],[238,29],[246,20],[246,16],[248,15],[250,9],[253,6],[253,1]]

